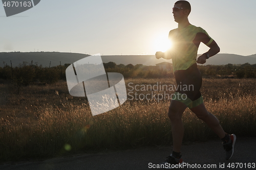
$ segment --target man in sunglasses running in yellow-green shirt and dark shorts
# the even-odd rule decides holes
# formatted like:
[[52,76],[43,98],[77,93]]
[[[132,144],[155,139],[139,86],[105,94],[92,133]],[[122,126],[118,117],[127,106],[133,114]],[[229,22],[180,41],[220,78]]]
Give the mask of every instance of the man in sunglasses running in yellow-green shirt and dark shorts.
[[[184,127],[182,124],[182,114],[188,107],[198,118],[202,119],[223,141],[226,151],[226,159],[230,159],[234,152],[236,135],[228,135],[222,129],[217,117],[209,113],[203,103],[200,93],[202,77],[197,63],[204,64],[206,59],[220,52],[218,44],[200,27],[193,26],[188,21],[191,11],[187,1],[177,1],[173,8],[174,20],[178,22],[178,28],[169,32],[169,39],[173,42],[173,47],[165,52],[156,52],[156,58],[172,59],[175,80],[180,85],[193,85],[194,90],[182,91],[179,89],[173,95],[170,102],[168,117],[172,124],[173,152],[167,157],[164,163],[183,163],[180,151],[183,139]],[[203,42],[210,49],[197,59],[197,51],[200,42]],[[178,95],[186,94],[187,98],[178,98]]]

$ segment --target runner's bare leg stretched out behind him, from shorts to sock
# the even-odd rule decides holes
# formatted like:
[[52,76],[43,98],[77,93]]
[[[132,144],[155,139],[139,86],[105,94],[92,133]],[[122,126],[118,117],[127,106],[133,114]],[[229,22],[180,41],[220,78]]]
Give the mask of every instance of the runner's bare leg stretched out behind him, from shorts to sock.
[[222,129],[218,118],[206,110],[204,103],[190,110],[193,111],[198,118],[202,119],[221,139],[225,137],[226,133]]

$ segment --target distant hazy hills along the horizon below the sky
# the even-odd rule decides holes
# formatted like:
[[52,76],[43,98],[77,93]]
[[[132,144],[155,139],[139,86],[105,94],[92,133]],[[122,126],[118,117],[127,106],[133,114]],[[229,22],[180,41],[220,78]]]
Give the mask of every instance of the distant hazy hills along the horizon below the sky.
[[[12,65],[18,66],[19,64],[26,61],[33,64],[37,63],[38,65],[49,67],[50,62],[51,66],[56,66],[60,64],[64,65],[66,63],[73,63],[79,59],[87,57],[90,55],[78,54],[78,53],[59,53],[59,52],[29,52],[29,53],[20,53],[20,52],[11,52],[11,53],[0,53],[0,67],[3,67],[5,62],[10,65],[10,60]],[[115,62],[116,64],[143,64],[143,65],[155,65],[164,61],[172,62],[172,60],[156,59],[154,55],[119,55],[119,56],[101,56],[104,63],[110,61]],[[211,57],[207,60],[204,65],[223,65],[223,64],[244,64],[256,63],[256,54],[250,56],[240,56],[235,54],[217,54],[214,57]]]

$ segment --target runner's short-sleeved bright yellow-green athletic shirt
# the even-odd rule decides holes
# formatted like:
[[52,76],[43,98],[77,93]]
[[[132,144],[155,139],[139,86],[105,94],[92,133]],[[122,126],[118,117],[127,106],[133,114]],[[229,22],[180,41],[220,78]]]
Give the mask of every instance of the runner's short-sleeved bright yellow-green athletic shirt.
[[172,48],[168,51],[166,59],[172,58],[173,71],[185,70],[197,63],[197,52],[200,42],[209,45],[213,39],[201,27],[189,25],[181,30],[174,29],[169,32]]

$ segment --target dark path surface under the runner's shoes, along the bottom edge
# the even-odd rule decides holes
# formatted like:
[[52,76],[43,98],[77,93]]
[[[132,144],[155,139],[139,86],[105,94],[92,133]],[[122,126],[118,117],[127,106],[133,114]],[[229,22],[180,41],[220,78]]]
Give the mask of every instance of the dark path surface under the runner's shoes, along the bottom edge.
[[[170,154],[172,147],[140,148],[136,150],[109,152],[100,154],[83,154],[73,157],[54,158],[45,161],[22,163],[6,163],[0,169],[28,170],[144,170],[162,169],[150,168],[152,163],[159,164]],[[183,169],[256,169],[256,138],[237,138],[234,155],[225,160],[225,151],[220,140],[190,143],[183,145],[183,161],[190,165]],[[240,163],[240,164],[238,164]],[[254,166],[253,166],[254,163]],[[234,168],[228,167],[234,165]],[[201,168],[199,168],[201,165]],[[203,165],[212,168],[203,168]],[[216,166],[215,166],[216,165]],[[225,166],[221,168],[221,166]],[[251,165],[251,168],[248,168]],[[238,167],[237,167],[238,166]],[[245,166],[247,168],[245,168]],[[194,167],[194,168],[193,168]],[[253,168],[254,167],[254,168]]]

